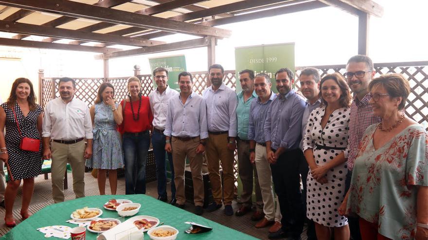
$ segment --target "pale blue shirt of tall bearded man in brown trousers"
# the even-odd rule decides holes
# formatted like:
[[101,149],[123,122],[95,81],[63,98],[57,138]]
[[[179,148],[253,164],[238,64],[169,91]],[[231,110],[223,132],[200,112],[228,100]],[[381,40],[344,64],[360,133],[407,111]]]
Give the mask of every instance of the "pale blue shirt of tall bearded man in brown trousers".
[[223,82],[215,92],[212,86],[206,88],[202,92],[202,96],[207,104],[208,131],[229,131],[229,137],[236,137],[236,106],[238,105],[238,99],[232,88],[226,86]]

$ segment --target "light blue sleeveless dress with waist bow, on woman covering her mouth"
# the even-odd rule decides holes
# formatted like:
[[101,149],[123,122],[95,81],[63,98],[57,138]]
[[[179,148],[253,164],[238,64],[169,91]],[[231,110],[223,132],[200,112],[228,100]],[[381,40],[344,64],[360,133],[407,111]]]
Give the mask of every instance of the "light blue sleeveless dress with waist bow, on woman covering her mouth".
[[[116,104],[117,108],[118,104]],[[124,167],[124,156],[119,132],[110,106],[104,102],[95,104],[92,158],[86,166],[98,169]]]

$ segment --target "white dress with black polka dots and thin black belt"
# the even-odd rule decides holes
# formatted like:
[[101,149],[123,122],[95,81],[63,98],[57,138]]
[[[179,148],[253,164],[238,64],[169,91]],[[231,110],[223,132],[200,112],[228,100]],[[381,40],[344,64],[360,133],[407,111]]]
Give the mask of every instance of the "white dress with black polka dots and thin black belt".
[[[339,108],[334,111],[325,127],[322,128],[321,119],[324,112],[325,107],[311,112],[303,139],[303,151],[312,148],[318,166],[323,166],[333,160],[344,151],[343,149],[348,143],[350,109]],[[346,194],[345,178],[348,173],[346,161],[327,171],[328,182],[324,184],[315,180],[310,172],[309,170],[306,183],[307,217],[315,223],[328,227],[340,227],[348,224],[348,219],[340,216],[338,212]]]

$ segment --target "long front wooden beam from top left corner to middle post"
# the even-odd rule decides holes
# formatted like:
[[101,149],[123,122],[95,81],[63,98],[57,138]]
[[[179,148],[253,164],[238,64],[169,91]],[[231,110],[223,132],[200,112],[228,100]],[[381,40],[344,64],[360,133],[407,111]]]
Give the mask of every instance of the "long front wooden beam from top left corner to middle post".
[[51,12],[64,16],[81,17],[115,24],[157,29],[166,32],[216,37],[229,37],[231,35],[231,31],[225,29],[195,25],[162,17],[129,13],[126,11],[99,7],[71,0],[55,0],[55,4],[52,4],[52,0],[0,0],[0,4],[33,11]]

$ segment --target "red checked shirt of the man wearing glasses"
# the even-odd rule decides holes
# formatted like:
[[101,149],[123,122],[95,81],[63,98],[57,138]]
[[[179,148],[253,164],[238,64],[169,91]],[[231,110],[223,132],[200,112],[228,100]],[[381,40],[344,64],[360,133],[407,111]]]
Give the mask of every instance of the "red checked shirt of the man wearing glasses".
[[357,96],[351,104],[351,116],[349,117],[349,138],[348,146],[345,150],[345,158],[348,158],[348,170],[354,168],[354,161],[357,157],[358,146],[366,129],[376,123],[380,123],[381,118],[373,115],[373,108],[369,104],[371,97],[366,95],[361,101]]

